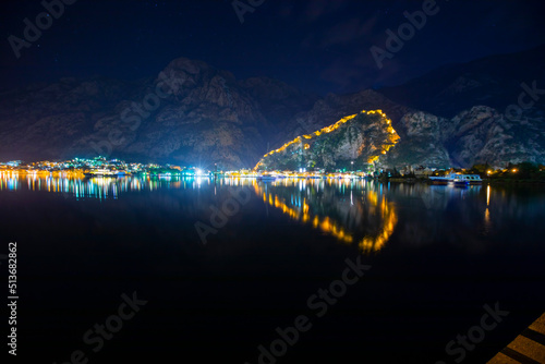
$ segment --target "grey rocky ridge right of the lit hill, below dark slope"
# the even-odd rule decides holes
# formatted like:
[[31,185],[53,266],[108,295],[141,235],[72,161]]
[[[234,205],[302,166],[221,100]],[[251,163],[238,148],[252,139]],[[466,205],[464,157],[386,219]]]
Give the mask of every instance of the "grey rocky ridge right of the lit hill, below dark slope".
[[408,112],[400,124],[405,136],[382,160],[385,167],[434,168],[488,163],[505,168],[509,162],[545,163],[543,118],[509,120],[486,106],[474,106],[453,118]]

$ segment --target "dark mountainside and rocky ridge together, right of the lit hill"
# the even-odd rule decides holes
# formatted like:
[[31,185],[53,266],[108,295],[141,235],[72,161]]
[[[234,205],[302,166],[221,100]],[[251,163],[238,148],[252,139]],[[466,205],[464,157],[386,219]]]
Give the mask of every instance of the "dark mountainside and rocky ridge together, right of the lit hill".
[[545,46],[487,57],[382,89],[420,110],[403,116],[402,139],[385,165],[545,163],[544,57]]

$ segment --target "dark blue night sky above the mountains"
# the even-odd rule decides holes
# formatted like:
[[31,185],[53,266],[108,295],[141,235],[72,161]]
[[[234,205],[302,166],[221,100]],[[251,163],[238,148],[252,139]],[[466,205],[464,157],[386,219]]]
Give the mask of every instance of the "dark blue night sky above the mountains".
[[379,70],[370,48],[385,49],[386,31],[397,33],[408,22],[403,12],[424,2],[265,0],[241,24],[232,0],[77,0],[17,59],[9,37],[24,38],[23,20],[35,24],[45,10],[38,0],[3,0],[0,87],[62,76],[140,78],[187,57],[239,78],[266,75],[305,90],[346,93],[545,43],[543,0],[437,0],[437,13]]

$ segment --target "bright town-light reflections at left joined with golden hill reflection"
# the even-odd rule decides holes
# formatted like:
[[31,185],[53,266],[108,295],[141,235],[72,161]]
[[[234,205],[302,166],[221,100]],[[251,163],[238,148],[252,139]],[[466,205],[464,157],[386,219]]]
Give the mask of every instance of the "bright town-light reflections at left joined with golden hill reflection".
[[238,178],[77,178],[17,173],[2,173],[0,179],[0,191],[41,191],[76,199],[118,199],[132,192],[158,190],[206,189],[216,195],[222,187],[251,187],[266,205],[289,218],[342,243],[358,244],[364,252],[380,250],[397,222],[395,205],[387,201],[382,185],[364,180],[286,179],[261,183]]

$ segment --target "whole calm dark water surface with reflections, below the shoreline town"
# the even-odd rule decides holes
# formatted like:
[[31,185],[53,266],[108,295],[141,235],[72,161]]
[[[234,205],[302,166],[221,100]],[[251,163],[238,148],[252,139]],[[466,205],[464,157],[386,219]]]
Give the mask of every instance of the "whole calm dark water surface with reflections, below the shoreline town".
[[545,311],[543,187],[2,174],[0,206],[19,361],[484,363]]

